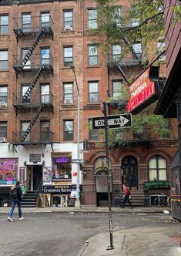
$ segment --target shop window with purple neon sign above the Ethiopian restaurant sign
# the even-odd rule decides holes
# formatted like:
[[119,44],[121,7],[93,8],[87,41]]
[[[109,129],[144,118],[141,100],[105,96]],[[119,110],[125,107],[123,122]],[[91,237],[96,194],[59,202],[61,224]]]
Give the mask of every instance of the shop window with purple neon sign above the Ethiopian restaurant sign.
[[71,152],[52,152],[52,181],[71,179]]

